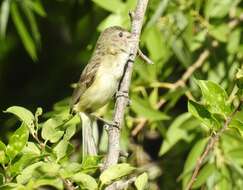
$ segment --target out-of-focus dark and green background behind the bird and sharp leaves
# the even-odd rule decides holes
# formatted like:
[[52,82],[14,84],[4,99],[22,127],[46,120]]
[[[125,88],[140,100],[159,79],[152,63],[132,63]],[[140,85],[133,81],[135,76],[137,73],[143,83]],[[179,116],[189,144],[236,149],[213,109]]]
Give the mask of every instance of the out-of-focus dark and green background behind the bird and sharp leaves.
[[[49,112],[67,100],[100,31],[112,25],[129,29],[128,11],[135,5],[135,0],[1,0],[1,139],[15,129],[3,110],[20,105]],[[131,163],[155,166],[157,188],[181,189],[188,153],[209,132],[187,113],[188,98],[201,97],[195,79],[212,80],[227,92],[233,88],[243,58],[242,7],[241,0],[149,1],[140,47],[154,65],[135,62],[122,142]],[[188,68],[193,72],[177,85]],[[110,108],[112,103],[108,116]]]

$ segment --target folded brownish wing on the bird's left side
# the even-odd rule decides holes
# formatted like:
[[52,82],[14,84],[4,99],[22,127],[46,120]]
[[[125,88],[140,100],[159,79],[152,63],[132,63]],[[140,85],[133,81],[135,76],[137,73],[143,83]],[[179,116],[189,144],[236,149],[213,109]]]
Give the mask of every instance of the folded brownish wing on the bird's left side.
[[101,62],[100,56],[92,56],[91,60],[83,70],[79,82],[77,83],[77,87],[73,91],[72,99],[70,107],[72,109],[73,105],[75,105],[82,94],[92,85],[94,82],[96,73],[99,69]]

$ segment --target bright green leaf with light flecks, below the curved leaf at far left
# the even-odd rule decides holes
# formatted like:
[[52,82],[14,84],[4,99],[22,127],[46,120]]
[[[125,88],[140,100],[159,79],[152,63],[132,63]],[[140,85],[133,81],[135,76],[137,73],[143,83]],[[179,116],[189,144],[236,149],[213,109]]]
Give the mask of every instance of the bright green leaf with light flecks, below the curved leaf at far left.
[[10,160],[13,160],[17,154],[25,147],[29,138],[29,130],[27,125],[23,122],[22,125],[10,137],[9,144],[6,148],[6,154]]

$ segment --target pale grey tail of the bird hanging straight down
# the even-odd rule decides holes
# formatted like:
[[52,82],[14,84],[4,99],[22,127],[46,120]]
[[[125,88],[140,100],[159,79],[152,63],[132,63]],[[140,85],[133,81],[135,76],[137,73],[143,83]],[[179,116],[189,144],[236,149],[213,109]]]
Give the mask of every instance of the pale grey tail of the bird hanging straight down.
[[83,158],[85,156],[97,155],[97,143],[94,137],[94,122],[92,118],[85,113],[80,113],[82,120],[82,141],[83,141]]

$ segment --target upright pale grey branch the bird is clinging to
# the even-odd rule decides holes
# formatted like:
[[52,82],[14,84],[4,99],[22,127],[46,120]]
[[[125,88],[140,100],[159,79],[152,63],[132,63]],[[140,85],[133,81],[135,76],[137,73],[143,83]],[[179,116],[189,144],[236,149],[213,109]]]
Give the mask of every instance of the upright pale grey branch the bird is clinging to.
[[[132,18],[132,39],[133,44],[131,47],[131,52],[129,60],[127,61],[127,67],[124,71],[124,76],[120,83],[119,92],[125,93],[129,91],[129,86],[131,83],[131,76],[133,70],[133,62],[136,58],[139,44],[139,37],[142,29],[143,18],[147,8],[148,0],[138,0],[137,7]],[[118,124],[116,126],[110,126],[108,129],[108,155],[104,163],[104,168],[107,169],[109,166],[117,164],[120,152],[120,128],[124,117],[125,108],[128,104],[128,99],[124,96],[119,96],[116,99],[115,111],[113,122]]]

